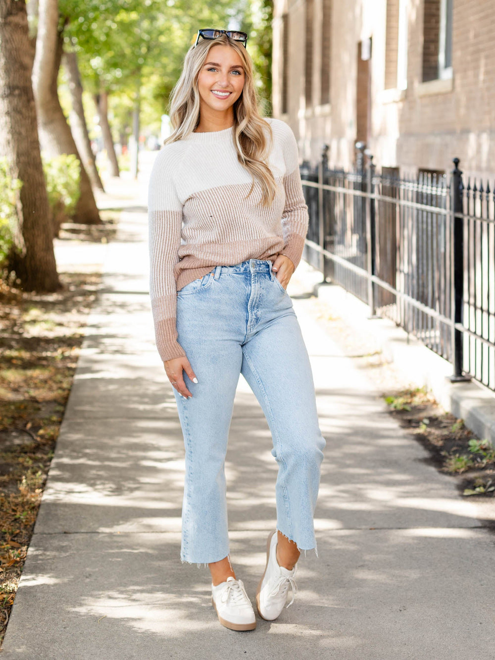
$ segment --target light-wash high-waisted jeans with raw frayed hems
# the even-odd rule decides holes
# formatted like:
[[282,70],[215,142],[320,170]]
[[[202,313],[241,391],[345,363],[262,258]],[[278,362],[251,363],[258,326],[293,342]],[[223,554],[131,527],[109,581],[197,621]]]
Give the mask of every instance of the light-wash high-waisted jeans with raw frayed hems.
[[239,374],[273,438],[277,529],[300,550],[316,551],[313,513],[325,440],[308,351],[271,267],[269,259],[216,266],[177,294],[178,341],[198,380],[183,372],[189,399],[174,389],[185,445],[183,562],[229,555],[224,460]]

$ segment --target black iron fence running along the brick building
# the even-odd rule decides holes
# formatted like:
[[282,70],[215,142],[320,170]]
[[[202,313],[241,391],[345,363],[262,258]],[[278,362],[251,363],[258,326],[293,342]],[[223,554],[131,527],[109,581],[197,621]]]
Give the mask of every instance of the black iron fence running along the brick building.
[[495,188],[445,174],[300,168],[310,226],[304,259],[453,364],[452,380],[495,390]]

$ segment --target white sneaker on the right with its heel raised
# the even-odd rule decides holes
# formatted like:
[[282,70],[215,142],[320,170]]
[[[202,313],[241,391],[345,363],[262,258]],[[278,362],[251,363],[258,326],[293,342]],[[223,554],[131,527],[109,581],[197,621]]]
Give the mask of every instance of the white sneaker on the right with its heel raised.
[[277,530],[271,532],[267,541],[267,565],[256,593],[256,606],[261,618],[273,621],[279,616],[284,609],[289,587],[292,589],[292,601],[287,607],[294,603],[297,590],[294,581],[296,569],[297,564],[292,570],[279,566],[279,562],[277,562]]

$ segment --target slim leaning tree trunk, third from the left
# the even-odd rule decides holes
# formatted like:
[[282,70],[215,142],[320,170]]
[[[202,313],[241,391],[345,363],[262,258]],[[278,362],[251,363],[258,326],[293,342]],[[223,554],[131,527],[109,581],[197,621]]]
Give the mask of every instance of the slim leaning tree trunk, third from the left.
[[72,110],[69,115],[71,132],[73,134],[77,149],[82,156],[82,164],[94,188],[103,190],[103,183],[100,174],[96,169],[94,153],[91,149],[91,142],[88,135],[88,126],[86,117],[84,117],[84,108],[82,106],[82,82],[79,66],[77,65],[77,53],[63,53],[63,65],[67,71],[69,79],[69,91],[71,92]]

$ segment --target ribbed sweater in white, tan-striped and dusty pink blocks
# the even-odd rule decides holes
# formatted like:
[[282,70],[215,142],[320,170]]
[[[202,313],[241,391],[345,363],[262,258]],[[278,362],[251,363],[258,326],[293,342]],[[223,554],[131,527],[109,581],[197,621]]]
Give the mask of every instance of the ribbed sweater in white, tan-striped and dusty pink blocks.
[[283,254],[297,267],[308,231],[292,129],[265,118],[273,131],[268,165],[277,195],[262,207],[261,185],[237,158],[234,129],[191,133],[162,147],[149,182],[150,300],[163,361],[184,356],[176,330],[177,292],[216,265]]

